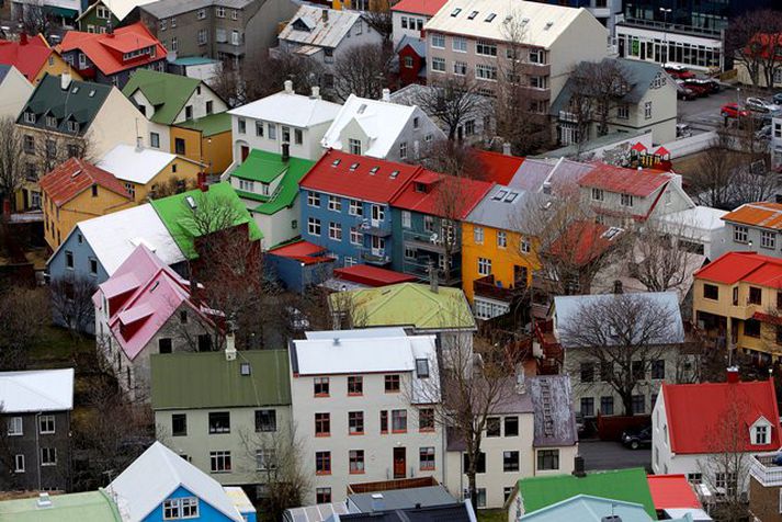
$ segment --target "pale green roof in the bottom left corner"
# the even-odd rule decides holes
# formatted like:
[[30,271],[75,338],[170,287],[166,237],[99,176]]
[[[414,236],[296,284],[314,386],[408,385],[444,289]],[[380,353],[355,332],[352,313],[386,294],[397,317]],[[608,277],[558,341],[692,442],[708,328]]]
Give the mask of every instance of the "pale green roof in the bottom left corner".
[[38,508],[37,496],[0,502],[0,520],[15,522],[120,522],[120,512],[109,496],[99,491],[52,495],[50,508]]

